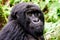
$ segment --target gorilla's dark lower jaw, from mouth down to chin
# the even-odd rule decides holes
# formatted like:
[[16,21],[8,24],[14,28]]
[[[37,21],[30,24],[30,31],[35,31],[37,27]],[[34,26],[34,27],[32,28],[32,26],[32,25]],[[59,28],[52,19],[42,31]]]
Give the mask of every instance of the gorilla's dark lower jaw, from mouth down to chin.
[[26,27],[26,32],[28,34],[31,34],[31,35],[35,36],[35,37],[40,37],[41,35],[43,35],[43,26],[42,25],[27,26]]

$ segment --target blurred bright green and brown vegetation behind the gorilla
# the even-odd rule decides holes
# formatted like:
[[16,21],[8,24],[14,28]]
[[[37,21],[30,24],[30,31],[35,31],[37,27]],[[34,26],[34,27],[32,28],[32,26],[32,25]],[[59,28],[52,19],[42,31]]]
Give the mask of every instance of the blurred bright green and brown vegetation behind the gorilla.
[[7,23],[12,7],[19,2],[33,2],[45,17],[45,40],[60,40],[60,0],[0,0],[0,30]]

